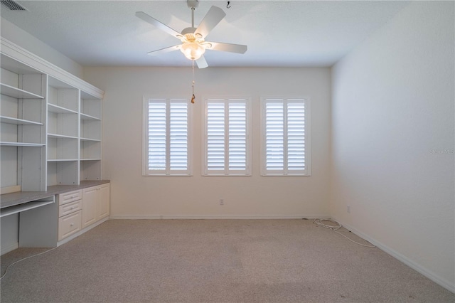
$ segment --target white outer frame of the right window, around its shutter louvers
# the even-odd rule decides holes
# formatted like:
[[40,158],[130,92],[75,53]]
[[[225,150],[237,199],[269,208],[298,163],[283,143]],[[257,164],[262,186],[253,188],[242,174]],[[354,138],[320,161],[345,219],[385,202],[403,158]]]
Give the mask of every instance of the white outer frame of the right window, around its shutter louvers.
[[[303,173],[292,174],[289,173],[287,168],[277,171],[267,171],[267,153],[266,153],[266,117],[265,117],[265,104],[267,100],[303,100],[305,104],[305,169]],[[287,120],[287,117],[284,118],[284,121]],[[260,100],[260,147],[261,147],[261,176],[277,176],[277,177],[306,177],[311,176],[311,99],[310,97],[261,97]]]

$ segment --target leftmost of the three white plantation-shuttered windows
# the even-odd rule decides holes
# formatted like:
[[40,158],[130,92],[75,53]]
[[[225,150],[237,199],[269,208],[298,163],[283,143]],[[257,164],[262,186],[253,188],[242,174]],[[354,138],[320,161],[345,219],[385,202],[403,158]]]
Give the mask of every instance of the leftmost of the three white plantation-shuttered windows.
[[191,104],[144,97],[143,176],[191,176]]

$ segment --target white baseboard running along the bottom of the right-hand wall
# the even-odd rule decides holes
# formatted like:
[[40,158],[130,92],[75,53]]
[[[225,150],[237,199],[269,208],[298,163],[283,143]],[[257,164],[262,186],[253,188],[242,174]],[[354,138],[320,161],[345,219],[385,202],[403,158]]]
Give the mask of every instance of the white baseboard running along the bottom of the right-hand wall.
[[405,255],[402,255],[400,252],[397,252],[396,250],[389,248],[387,245],[384,245],[384,244],[380,243],[379,241],[371,238],[370,236],[365,235],[360,230],[357,230],[356,228],[353,228],[352,226],[341,222],[336,217],[332,217],[332,218],[333,218],[333,220],[336,220],[338,223],[343,225],[344,228],[347,228],[352,233],[355,233],[355,235],[358,235],[360,238],[368,240],[370,243],[376,245],[380,250],[387,252],[387,254],[391,255],[392,257],[395,257],[395,259],[405,263],[405,265],[411,267],[413,270],[424,275],[429,280],[432,280],[433,282],[437,283],[438,285],[441,285],[441,287],[444,287],[445,289],[455,293],[455,285],[451,285],[451,283],[449,281],[445,280],[444,278],[438,277],[438,275],[435,275],[434,272],[427,270],[426,268],[422,267],[421,265],[417,264],[416,262],[410,260]]

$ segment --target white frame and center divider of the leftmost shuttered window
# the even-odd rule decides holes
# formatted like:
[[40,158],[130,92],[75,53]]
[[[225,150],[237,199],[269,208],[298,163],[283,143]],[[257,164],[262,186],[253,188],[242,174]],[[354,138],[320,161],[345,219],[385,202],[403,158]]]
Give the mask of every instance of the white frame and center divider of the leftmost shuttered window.
[[[170,150],[166,150],[166,167],[164,170],[150,170],[149,169],[149,102],[150,100],[165,101],[166,109],[171,107],[171,102],[186,103],[187,105],[187,169],[186,170],[172,170],[170,167]],[[142,176],[193,176],[193,163],[192,163],[192,142],[193,142],[193,110],[191,99],[188,97],[155,97],[144,96],[143,99],[143,115],[142,115]],[[166,146],[169,147],[170,137],[170,112],[166,112]]]

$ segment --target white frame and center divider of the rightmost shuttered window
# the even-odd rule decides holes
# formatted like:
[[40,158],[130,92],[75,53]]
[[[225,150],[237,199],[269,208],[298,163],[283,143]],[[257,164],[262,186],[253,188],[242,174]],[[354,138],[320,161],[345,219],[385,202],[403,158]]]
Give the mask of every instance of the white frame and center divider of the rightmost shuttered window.
[[[303,102],[305,106],[305,112],[304,112],[304,121],[305,121],[305,139],[304,139],[304,144],[305,144],[305,160],[304,160],[304,166],[305,169],[303,170],[296,170],[293,172],[292,170],[289,170],[289,166],[284,167],[283,169],[276,169],[272,170],[269,169],[267,170],[267,138],[266,138],[266,127],[267,127],[267,116],[266,116],[266,104],[268,101],[274,101],[274,102],[283,102],[283,104],[288,104],[289,101],[291,102]],[[283,113],[285,114],[286,110],[283,108]],[[260,139],[261,139],[261,176],[279,176],[279,177],[291,177],[291,176],[311,176],[311,99],[310,97],[261,97],[260,100]],[[283,118],[283,123],[286,124],[287,122],[287,115]],[[284,127],[286,132],[284,134],[284,139],[287,138],[287,126]],[[284,148],[283,153],[287,150],[287,147]],[[287,158],[289,154],[283,154],[284,156],[284,166],[287,163]]]

